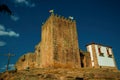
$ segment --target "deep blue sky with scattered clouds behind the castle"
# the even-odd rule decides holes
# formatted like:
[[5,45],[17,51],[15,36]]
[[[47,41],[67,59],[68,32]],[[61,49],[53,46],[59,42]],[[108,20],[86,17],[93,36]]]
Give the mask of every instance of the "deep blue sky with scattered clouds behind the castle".
[[34,52],[41,40],[42,23],[54,14],[73,16],[76,20],[79,48],[86,50],[90,42],[112,46],[120,69],[120,0],[0,0],[14,15],[0,13],[0,71],[5,70],[7,56],[10,67],[18,58]]

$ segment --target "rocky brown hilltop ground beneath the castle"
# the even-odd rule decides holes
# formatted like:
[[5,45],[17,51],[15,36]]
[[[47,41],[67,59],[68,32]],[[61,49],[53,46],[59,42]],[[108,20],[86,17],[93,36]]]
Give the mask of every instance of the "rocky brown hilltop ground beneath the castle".
[[7,71],[0,74],[0,80],[120,80],[116,69],[26,69]]

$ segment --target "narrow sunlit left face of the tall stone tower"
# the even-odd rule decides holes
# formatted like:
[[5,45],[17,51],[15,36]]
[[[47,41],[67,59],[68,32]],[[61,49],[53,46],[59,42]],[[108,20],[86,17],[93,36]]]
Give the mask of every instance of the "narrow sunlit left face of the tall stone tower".
[[39,44],[40,48],[40,67],[52,67],[53,63],[53,27],[52,17],[43,24],[42,26],[42,38]]

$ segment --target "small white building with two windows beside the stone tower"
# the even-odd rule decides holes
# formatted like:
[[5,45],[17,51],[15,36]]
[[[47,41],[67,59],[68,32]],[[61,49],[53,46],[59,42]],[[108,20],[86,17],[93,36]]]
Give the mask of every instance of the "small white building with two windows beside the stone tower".
[[94,68],[117,68],[112,47],[90,43],[87,45],[90,52],[92,67]]

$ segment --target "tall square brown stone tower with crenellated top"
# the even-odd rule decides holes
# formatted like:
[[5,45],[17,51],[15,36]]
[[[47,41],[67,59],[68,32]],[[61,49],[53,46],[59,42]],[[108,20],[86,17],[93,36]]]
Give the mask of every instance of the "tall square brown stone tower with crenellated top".
[[41,68],[80,68],[76,22],[52,13],[42,26],[36,53]]

